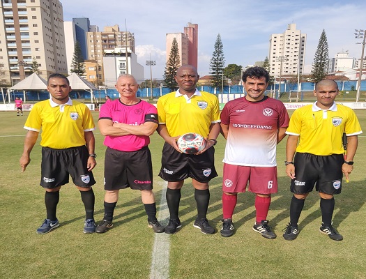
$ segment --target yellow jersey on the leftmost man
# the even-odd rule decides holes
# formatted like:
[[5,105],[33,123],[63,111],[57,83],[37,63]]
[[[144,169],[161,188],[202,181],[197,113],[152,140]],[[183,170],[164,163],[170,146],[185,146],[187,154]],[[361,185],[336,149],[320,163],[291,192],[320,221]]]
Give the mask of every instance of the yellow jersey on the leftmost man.
[[95,126],[89,108],[69,98],[63,105],[49,99],[33,106],[24,129],[39,132],[41,128],[41,146],[66,149],[86,144],[84,132]]

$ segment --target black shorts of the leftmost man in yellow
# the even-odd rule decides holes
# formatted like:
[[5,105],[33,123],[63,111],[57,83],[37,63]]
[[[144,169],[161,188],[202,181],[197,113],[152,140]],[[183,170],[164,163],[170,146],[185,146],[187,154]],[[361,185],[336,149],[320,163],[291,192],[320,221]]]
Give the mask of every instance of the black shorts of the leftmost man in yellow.
[[69,175],[76,186],[93,186],[96,181],[93,172],[88,170],[88,158],[86,146],[68,149],[43,147],[40,186],[49,189],[63,186],[69,182]]

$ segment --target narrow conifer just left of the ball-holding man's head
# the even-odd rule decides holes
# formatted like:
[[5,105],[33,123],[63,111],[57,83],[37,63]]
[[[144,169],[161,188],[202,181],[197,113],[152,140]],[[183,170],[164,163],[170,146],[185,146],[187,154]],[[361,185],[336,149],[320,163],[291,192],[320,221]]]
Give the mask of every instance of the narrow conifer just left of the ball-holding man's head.
[[176,38],[173,39],[171,43],[171,49],[169,54],[169,59],[167,61],[167,65],[165,66],[164,72],[164,83],[171,91],[174,91],[178,84],[176,83],[175,76],[176,70],[181,66],[178,50],[178,43],[176,42]]

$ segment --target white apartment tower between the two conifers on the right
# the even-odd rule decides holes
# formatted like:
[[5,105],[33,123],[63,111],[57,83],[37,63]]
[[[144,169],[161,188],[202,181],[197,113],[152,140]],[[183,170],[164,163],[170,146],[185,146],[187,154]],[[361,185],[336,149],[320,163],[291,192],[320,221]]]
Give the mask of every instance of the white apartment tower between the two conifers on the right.
[[269,44],[270,75],[297,75],[298,70],[303,73],[306,34],[297,30],[296,24],[289,24],[284,33],[272,34]]

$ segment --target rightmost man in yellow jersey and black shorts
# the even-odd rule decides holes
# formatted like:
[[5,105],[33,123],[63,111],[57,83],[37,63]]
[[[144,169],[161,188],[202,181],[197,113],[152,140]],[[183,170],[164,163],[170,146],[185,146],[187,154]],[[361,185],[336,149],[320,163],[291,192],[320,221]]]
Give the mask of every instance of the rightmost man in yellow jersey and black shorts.
[[[307,195],[319,191],[322,223],[319,231],[330,239],[341,241],[343,236],[332,226],[335,200],[341,193],[343,174],[346,180],[353,170],[353,157],[362,133],[360,123],[351,108],[335,104],[338,85],[333,80],[315,84],[317,102],[295,110],[287,128],[286,173],[291,178],[290,223],[284,229],[286,240],[296,239],[298,219]],[[342,136],[346,133],[347,153],[344,158]],[[345,143],[344,143],[345,144]]]

